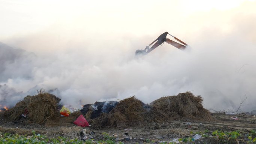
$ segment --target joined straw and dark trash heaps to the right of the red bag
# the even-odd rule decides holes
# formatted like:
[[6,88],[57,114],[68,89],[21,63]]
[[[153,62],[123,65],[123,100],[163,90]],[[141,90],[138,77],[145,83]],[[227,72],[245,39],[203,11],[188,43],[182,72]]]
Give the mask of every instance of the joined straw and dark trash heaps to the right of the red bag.
[[116,106],[109,113],[102,111],[103,103],[100,106],[97,106],[98,103],[85,105],[81,112],[92,126],[117,128],[177,119],[211,120],[210,112],[203,108],[202,101],[201,96],[194,96],[191,92],[162,97],[149,105],[132,96],[115,103]]

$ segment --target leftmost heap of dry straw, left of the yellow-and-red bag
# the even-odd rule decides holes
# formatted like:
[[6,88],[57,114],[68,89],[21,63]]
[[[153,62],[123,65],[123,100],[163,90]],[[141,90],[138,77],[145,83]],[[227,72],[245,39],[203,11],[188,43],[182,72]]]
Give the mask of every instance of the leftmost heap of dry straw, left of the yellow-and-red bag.
[[40,90],[38,95],[28,95],[14,107],[4,111],[4,118],[15,122],[21,119],[22,114],[26,114],[28,122],[43,124],[46,120],[59,115],[57,104],[60,100],[55,95]]

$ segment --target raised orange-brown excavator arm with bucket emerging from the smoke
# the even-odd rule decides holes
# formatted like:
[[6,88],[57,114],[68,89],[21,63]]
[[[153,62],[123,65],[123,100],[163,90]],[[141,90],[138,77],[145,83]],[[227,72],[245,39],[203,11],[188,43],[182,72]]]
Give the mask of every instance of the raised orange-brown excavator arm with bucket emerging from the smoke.
[[151,52],[153,49],[157,48],[159,45],[161,45],[164,42],[167,42],[168,44],[173,45],[174,47],[176,47],[180,50],[184,50],[188,46],[185,42],[178,39],[177,37],[172,36],[171,34],[169,34],[169,35],[172,36],[178,42],[182,43],[183,45],[180,43],[174,42],[173,40],[168,39],[167,34],[169,34],[169,33],[165,32],[165,33],[161,34],[156,40],[154,40],[152,43],[150,43],[149,46],[151,46],[153,43],[155,43],[157,41],[151,48],[149,48],[149,46],[146,46],[146,48],[144,50],[139,50],[139,49],[136,50],[135,55],[138,55],[138,54],[146,55],[147,53]]

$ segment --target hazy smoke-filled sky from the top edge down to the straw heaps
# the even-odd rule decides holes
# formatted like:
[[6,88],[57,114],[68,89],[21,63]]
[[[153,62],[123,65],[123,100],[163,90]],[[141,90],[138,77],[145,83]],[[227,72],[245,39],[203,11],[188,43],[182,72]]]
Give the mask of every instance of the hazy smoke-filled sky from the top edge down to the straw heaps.
[[[216,110],[236,109],[246,93],[244,110],[256,109],[255,7],[255,0],[0,0],[0,42],[37,55],[26,67],[8,65],[0,85],[23,97],[58,89],[73,105],[192,91]],[[165,43],[134,58],[165,31],[191,48]]]

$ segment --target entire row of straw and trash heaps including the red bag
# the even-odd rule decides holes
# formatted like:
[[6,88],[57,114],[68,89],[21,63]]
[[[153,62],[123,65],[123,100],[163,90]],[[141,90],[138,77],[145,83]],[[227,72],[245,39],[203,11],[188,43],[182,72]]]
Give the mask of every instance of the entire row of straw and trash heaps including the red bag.
[[26,96],[4,111],[4,119],[9,122],[23,120],[46,127],[82,123],[82,126],[117,128],[177,119],[211,120],[210,112],[202,106],[202,97],[191,92],[162,97],[150,104],[144,104],[135,96],[121,101],[95,102],[84,105],[80,111],[65,105],[61,108],[60,100],[55,95],[39,91],[38,95]]

